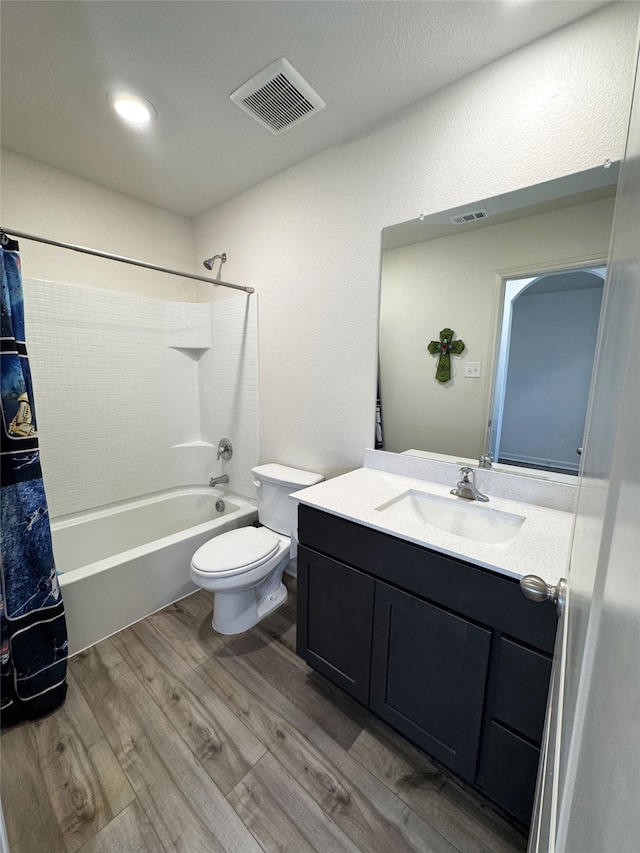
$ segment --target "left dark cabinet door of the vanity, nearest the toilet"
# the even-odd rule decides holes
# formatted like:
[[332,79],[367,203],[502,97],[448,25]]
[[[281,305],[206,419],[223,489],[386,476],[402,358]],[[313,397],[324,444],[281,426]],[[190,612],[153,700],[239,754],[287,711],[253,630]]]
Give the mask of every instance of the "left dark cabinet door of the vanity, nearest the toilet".
[[298,654],[365,705],[374,586],[368,575],[299,547]]

